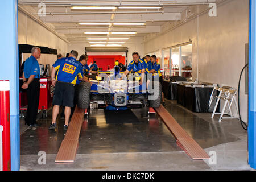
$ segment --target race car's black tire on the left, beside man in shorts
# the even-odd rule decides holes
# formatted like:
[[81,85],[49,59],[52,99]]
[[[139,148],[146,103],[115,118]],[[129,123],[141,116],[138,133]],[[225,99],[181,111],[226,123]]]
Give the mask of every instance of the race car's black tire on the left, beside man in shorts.
[[90,105],[90,83],[81,81],[78,89],[77,106],[80,109],[88,109]]

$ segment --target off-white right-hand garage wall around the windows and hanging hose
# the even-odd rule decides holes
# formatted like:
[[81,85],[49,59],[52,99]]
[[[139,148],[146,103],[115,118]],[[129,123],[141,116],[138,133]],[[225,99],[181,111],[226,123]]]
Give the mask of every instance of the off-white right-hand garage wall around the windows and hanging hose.
[[[197,18],[194,18],[166,34],[144,42],[145,52],[175,46],[191,39],[193,80],[197,78],[198,63],[200,81],[237,88],[240,72],[245,65],[245,44],[248,43],[249,37],[249,0],[227,0],[217,6],[217,17],[210,17],[207,11],[200,15],[198,20],[199,31]],[[243,76],[241,114],[243,121],[247,122],[248,100],[244,92],[244,80]]]

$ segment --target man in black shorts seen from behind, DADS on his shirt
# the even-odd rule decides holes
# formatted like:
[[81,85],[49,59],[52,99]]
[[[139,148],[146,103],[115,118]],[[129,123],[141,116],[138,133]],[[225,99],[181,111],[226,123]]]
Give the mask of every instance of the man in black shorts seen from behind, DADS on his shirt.
[[83,79],[83,70],[81,64],[76,61],[78,52],[72,50],[71,57],[57,60],[52,65],[51,75],[55,75],[57,70],[56,79],[52,77],[52,85],[55,86],[52,104],[52,124],[49,130],[56,128],[56,118],[59,114],[60,106],[65,106],[65,125],[64,130],[68,129],[68,121],[71,114],[71,107],[74,104],[74,92],[77,76]]

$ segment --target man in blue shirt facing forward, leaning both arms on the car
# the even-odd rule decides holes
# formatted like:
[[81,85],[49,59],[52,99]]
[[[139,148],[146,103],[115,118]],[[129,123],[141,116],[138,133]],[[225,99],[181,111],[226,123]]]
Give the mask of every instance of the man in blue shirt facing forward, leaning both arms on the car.
[[144,60],[139,58],[139,53],[133,53],[133,61],[128,65],[126,71],[123,73],[122,78],[125,78],[128,73],[133,70],[138,76],[141,76],[139,84],[142,85],[147,70],[147,64]]

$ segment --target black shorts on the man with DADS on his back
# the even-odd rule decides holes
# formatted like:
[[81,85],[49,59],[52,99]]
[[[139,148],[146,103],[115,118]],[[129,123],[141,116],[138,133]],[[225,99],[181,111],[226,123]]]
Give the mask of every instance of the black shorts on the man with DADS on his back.
[[53,105],[58,106],[74,106],[75,88],[73,84],[67,82],[56,82],[53,96]]

